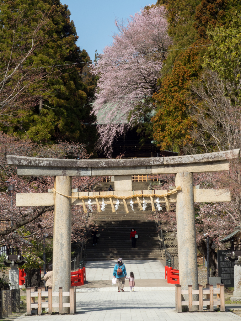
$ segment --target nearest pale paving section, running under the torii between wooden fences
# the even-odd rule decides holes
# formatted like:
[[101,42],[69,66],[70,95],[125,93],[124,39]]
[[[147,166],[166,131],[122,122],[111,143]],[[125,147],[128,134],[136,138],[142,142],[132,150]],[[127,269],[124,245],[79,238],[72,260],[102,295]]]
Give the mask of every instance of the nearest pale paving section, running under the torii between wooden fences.
[[76,293],[76,315],[28,316],[15,321],[237,321],[231,312],[175,311],[174,291]]

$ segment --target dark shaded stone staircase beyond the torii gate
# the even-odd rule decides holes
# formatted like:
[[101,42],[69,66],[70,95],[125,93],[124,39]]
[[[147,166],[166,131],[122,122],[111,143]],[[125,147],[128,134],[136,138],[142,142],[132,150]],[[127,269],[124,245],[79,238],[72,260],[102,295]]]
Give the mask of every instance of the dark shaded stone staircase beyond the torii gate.
[[[96,260],[159,260],[162,252],[156,233],[155,221],[147,220],[147,213],[151,213],[150,204],[146,211],[139,211],[134,204],[135,212],[125,213],[124,204],[120,204],[117,212],[112,213],[111,205],[105,206],[105,211],[94,213],[94,222],[99,228],[100,238],[98,245],[92,245],[92,238],[88,239],[86,246],[86,261]],[[140,236],[136,242],[136,248],[132,248],[129,240],[130,230],[135,228]]]

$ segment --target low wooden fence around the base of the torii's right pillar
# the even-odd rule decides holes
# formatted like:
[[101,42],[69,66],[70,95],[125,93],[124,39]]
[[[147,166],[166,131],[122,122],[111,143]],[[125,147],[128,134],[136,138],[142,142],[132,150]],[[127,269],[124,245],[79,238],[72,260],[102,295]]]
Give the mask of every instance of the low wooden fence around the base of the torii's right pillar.
[[[188,301],[182,301],[182,295],[188,294]],[[192,295],[198,294],[199,301],[192,301]],[[207,299],[203,299],[203,295],[207,295]],[[217,294],[217,298],[213,295]],[[224,299],[224,284],[217,283],[217,288],[213,289],[212,284],[206,284],[206,289],[199,285],[198,290],[192,290],[192,285],[188,286],[188,290],[182,290],[181,285],[175,284],[175,301],[176,311],[182,312],[182,306],[188,306],[189,311],[192,311],[193,305],[199,305],[199,311],[203,311],[203,304],[207,305],[207,309],[213,311],[213,306],[220,308],[221,312],[225,312],[225,299]]]

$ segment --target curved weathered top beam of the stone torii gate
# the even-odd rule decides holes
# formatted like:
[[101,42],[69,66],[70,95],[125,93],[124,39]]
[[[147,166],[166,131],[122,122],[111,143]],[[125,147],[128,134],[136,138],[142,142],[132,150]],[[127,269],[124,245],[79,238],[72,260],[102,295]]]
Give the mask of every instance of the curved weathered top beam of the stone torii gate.
[[9,165],[24,176],[118,176],[216,172],[229,169],[239,149],[207,154],[109,160],[68,160],[8,155]]

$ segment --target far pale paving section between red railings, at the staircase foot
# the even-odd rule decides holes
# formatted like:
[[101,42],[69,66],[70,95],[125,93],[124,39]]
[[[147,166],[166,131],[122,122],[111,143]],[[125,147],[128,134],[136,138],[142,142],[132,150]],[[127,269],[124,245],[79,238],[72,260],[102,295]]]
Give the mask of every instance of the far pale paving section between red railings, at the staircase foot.
[[[86,263],[86,280],[112,280],[117,261],[89,261]],[[165,279],[165,268],[160,261],[123,261],[127,276],[132,271],[136,280]]]

